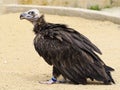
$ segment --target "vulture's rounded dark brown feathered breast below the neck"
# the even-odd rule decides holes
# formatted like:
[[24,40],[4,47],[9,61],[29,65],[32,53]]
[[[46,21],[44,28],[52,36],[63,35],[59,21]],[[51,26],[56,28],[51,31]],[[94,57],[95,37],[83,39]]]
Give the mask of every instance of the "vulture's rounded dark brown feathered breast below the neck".
[[53,61],[63,59],[70,50],[70,46],[66,42],[61,42],[58,39],[50,38],[38,34],[34,39],[35,50],[45,61],[52,65]]

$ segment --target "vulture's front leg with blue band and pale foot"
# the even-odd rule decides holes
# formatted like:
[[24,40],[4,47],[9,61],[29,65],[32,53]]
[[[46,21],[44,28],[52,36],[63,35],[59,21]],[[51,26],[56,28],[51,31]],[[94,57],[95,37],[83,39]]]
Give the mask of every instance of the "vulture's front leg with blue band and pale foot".
[[40,83],[42,83],[42,84],[53,84],[53,83],[56,83],[57,82],[57,78],[60,76],[60,74],[61,74],[60,71],[56,67],[53,66],[53,72],[52,72],[53,77],[50,80],[48,80],[48,81],[43,81],[43,82],[40,82]]

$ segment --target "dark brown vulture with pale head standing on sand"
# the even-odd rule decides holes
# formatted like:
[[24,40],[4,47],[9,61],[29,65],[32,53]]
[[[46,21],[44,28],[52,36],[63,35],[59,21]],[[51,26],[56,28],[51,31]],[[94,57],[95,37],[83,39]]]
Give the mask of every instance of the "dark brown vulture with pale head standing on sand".
[[87,79],[103,84],[115,84],[111,71],[97,55],[102,54],[86,36],[69,28],[65,24],[48,23],[38,9],[20,14],[33,25],[35,33],[34,47],[37,53],[51,66],[52,78],[45,84],[53,84],[62,75],[74,84],[87,84]]

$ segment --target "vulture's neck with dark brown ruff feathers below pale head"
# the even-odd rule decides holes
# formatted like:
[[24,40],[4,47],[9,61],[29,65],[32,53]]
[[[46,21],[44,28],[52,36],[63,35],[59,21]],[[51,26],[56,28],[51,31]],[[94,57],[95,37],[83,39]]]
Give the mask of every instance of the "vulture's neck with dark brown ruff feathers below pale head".
[[34,29],[33,31],[35,32],[35,34],[40,33],[47,25],[44,16],[41,16],[36,22],[33,23],[34,24]]

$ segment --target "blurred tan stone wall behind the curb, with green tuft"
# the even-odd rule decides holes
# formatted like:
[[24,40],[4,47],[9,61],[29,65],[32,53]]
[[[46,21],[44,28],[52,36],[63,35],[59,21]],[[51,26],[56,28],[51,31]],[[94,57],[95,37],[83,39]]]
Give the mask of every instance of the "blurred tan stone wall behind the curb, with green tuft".
[[100,10],[114,6],[118,7],[120,6],[120,0],[0,0],[0,4],[33,4]]

